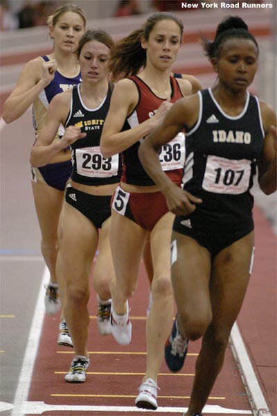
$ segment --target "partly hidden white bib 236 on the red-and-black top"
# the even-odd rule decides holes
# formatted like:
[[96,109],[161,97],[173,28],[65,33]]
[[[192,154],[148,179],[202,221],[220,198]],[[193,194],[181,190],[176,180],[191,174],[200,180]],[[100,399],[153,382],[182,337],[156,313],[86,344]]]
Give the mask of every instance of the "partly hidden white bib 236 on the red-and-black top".
[[178,135],[161,148],[159,155],[163,171],[173,171],[184,168],[185,162],[185,135]]

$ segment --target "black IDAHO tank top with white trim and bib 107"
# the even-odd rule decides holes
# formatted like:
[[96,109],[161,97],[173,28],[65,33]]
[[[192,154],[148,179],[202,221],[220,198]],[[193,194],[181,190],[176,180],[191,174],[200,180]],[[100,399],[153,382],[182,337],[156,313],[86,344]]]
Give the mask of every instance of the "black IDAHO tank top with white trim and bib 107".
[[224,113],[211,89],[199,94],[199,117],[186,130],[184,189],[202,198],[197,210],[210,218],[250,218],[250,189],[265,132],[256,96],[247,92],[238,116]]

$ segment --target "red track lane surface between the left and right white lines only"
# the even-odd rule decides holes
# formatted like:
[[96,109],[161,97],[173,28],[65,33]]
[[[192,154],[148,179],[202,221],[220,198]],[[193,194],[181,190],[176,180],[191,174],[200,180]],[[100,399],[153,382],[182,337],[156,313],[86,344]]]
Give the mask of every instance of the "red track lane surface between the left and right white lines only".
[[[82,384],[70,384],[64,381],[64,373],[69,369],[73,351],[57,345],[58,317],[46,316],[28,401],[76,406],[134,406],[137,388],[145,371],[145,310],[148,303],[148,282],[143,267],[141,267],[138,291],[129,303],[132,307],[133,338],[129,346],[122,347],[111,335],[103,337],[98,334],[95,320],[96,295],[91,290],[89,303],[91,365],[87,381]],[[186,365],[180,373],[170,373],[166,364],[163,363],[161,367],[163,375],[159,376],[161,388],[159,406],[188,406],[199,345],[199,342],[190,343]],[[207,404],[251,410],[230,349],[226,354],[224,369]],[[51,412],[51,415],[60,414],[62,413]],[[63,414],[80,415],[82,413],[74,411]],[[98,411],[85,413],[85,415],[99,416],[104,414],[107,415]],[[109,415],[113,414],[121,415],[120,412],[109,413]],[[159,413],[158,409],[155,414],[161,415],[162,413]],[[134,415],[134,413],[124,413],[124,415]]]

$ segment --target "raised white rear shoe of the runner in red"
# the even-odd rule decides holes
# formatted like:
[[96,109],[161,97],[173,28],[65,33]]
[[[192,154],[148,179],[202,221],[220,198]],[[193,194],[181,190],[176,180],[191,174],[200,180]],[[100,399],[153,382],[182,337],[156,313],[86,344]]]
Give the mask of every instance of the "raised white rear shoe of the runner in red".
[[124,315],[117,315],[111,305],[111,333],[120,345],[128,345],[132,339],[132,324],[129,322],[129,304]]

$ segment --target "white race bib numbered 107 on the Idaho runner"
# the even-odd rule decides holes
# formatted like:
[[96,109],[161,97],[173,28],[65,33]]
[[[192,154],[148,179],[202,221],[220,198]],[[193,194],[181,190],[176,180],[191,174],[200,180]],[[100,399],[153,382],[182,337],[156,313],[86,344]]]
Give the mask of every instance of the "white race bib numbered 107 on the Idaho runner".
[[208,156],[202,187],[214,193],[238,195],[249,188],[251,160]]

